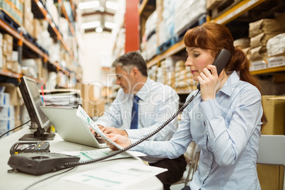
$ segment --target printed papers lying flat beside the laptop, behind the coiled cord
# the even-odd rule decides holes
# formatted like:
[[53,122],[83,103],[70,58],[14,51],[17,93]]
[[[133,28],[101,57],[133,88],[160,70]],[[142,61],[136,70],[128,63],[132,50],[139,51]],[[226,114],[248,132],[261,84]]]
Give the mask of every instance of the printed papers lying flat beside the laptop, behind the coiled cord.
[[[102,148],[98,150],[86,150],[86,151],[72,151],[72,152],[61,152],[62,154],[65,155],[72,155],[72,156],[77,156],[80,157],[80,162],[81,161],[89,161],[89,160],[94,160],[99,157],[104,157],[106,155],[111,155],[111,153],[115,152],[114,150],[110,150],[108,147],[107,148]],[[138,157],[145,156],[145,154],[140,153],[140,152],[132,152],[133,155],[136,155]],[[106,160],[114,160],[114,159],[119,159],[119,158],[124,158],[124,157],[130,157],[127,153],[123,152],[121,154],[118,154],[113,157],[109,157]]]

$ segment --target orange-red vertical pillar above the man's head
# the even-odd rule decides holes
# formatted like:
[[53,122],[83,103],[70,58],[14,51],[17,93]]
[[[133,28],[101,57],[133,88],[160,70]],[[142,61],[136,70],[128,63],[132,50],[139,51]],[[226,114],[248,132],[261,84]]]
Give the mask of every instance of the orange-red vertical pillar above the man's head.
[[125,1],[125,52],[140,50],[138,0]]

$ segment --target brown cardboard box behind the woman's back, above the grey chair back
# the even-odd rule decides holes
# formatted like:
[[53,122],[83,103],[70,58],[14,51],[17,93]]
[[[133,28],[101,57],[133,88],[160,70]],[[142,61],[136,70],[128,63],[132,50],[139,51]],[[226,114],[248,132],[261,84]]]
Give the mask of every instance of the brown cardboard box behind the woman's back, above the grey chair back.
[[285,96],[262,96],[262,105],[267,117],[262,134],[285,135]]

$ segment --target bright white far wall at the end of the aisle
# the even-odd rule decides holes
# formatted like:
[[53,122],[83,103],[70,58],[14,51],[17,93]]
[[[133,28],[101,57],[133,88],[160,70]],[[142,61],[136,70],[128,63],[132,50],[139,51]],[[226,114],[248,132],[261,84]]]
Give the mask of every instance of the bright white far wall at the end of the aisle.
[[[82,48],[82,82],[99,84],[98,86],[108,86],[107,75],[111,72],[102,71],[101,60],[104,60],[104,66],[111,65],[111,57],[113,51],[113,40],[111,33],[85,33],[82,36],[84,47]],[[110,55],[110,56],[108,56]],[[96,85],[97,86],[97,85]],[[101,91],[94,89],[94,96],[100,97]]]

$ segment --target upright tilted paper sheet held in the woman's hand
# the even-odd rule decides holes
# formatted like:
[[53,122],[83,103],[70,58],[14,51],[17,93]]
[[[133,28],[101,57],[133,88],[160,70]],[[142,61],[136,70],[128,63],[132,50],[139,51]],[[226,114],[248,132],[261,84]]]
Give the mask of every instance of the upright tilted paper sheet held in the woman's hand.
[[[101,136],[101,138],[104,138],[105,140],[107,140],[109,143],[112,143],[113,145],[115,145],[118,150],[123,149],[123,147],[121,147],[121,145],[118,145],[117,143],[113,142],[113,140],[107,138],[107,136],[102,132],[102,130],[94,123],[94,121],[88,116],[88,114],[84,111],[84,109],[82,108],[82,106],[78,106],[77,108],[77,116],[79,118],[82,118],[82,120],[87,123],[93,130],[95,130],[95,132]],[[133,155],[131,152],[129,152],[128,150],[125,151],[128,155],[130,155],[131,157],[134,157],[136,160],[140,160],[139,157]]]

